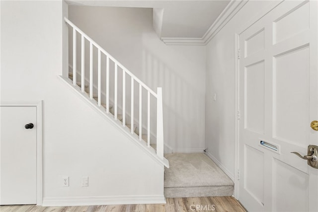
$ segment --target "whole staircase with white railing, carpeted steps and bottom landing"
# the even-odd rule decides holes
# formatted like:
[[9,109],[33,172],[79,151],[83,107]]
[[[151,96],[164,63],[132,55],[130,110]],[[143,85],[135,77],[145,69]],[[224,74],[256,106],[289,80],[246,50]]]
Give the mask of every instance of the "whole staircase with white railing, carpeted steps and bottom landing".
[[203,153],[167,154],[169,168],[163,157],[161,88],[153,91],[70,20],[65,21],[73,31],[73,50],[69,50],[73,61],[62,79],[166,167],[165,197],[232,196],[232,180]]

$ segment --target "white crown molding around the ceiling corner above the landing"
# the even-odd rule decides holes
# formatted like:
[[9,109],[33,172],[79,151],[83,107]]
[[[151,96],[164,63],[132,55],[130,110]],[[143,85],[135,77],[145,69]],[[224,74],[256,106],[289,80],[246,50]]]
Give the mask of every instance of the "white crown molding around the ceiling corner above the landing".
[[201,38],[169,38],[161,40],[166,45],[206,45],[236,15],[248,0],[231,0]]

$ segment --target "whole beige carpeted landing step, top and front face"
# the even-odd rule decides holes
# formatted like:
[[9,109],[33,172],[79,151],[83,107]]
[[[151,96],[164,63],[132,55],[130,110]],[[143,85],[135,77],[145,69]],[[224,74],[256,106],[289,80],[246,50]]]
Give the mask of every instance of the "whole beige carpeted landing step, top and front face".
[[164,196],[232,196],[233,181],[204,153],[166,154],[170,168],[164,170]]

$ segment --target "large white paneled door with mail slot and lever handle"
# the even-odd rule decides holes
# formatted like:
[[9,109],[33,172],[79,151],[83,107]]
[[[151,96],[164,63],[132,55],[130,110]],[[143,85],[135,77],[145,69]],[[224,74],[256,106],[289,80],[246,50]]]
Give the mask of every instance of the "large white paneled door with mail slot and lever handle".
[[239,34],[239,200],[248,211],[318,211],[317,1],[283,1]]

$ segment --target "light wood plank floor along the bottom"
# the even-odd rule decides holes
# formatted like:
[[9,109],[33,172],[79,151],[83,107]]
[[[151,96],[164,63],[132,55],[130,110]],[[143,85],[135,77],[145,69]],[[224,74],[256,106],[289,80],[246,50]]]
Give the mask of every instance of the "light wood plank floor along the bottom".
[[233,197],[166,198],[166,202],[149,205],[77,207],[0,206],[0,212],[245,212]]

